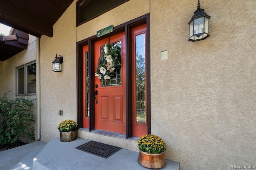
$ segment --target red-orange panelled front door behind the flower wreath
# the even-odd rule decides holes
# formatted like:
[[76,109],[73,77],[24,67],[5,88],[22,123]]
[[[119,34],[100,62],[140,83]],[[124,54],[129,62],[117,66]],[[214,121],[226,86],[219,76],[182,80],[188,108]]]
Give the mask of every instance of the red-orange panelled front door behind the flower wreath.
[[[102,47],[108,42],[120,43],[121,69],[115,70],[116,75],[109,80],[95,77],[95,88],[97,90],[95,102],[95,129],[126,133],[126,53],[125,53],[125,33],[119,33],[95,42],[95,72],[98,67],[98,59],[103,50]],[[97,88],[96,88],[97,87]]]

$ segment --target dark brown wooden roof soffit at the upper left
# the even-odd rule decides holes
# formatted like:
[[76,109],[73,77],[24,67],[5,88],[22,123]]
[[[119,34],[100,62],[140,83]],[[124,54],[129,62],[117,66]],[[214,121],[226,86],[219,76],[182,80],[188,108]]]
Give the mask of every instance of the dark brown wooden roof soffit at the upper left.
[[0,0],[0,23],[41,37],[52,37],[52,26],[74,0]]

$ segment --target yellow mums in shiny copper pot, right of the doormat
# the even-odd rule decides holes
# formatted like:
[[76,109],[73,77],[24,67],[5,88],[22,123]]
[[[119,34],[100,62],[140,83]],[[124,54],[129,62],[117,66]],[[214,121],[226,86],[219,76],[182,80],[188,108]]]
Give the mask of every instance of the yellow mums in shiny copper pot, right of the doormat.
[[162,168],[166,162],[164,159],[164,151],[166,144],[156,135],[143,135],[137,141],[140,149],[138,162],[146,168]]

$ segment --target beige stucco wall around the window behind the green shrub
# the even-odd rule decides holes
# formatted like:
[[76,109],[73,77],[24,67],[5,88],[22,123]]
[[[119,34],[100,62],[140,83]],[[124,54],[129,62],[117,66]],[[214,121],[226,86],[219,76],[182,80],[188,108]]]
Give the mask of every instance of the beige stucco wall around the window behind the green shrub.
[[[2,82],[3,85],[1,87],[0,85],[0,96],[3,96],[5,92],[8,92],[8,98],[16,98],[16,67],[22,66],[24,64],[30,63],[32,61],[36,60],[36,37],[29,35],[28,40],[28,49],[25,49],[24,51],[18,53],[17,55],[14,55],[10,59],[7,59],[6,61],[3,61],[2,64],[0,62],[0,70],[2,65]],[[0,71],[0,80],[1,80],[1,71]],[[1,82],[1,83],[2,83]],[[1,84],[0,83],[0,84]],[[25,96],[25,98],[29,100],[36,99],[36,95],[31,96]],[[31,108],[31,111],[34,112],[35,120],[38,117],[36,108],[37,108],[37,101],[33,101],[34,106]],[[37,136],[37,122],[33,123],[35,127],[35,137]],[[27,138],[22,139],[23,142],[31,142],[31,140]]]

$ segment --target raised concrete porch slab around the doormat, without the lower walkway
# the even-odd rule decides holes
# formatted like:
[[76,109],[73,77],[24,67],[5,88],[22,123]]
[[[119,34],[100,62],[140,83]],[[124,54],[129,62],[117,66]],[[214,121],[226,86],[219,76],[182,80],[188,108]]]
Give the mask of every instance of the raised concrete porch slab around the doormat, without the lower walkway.
[[[34,170],[145,170],[137,162],[138,152],[120,149],[109,158],[102,158],[76,147],[89,142],[77,138],[72,142],[60,142],[60,138],[51,140],[34,158]],[[178,162],[166,160],[163,170],[179,170]]]

